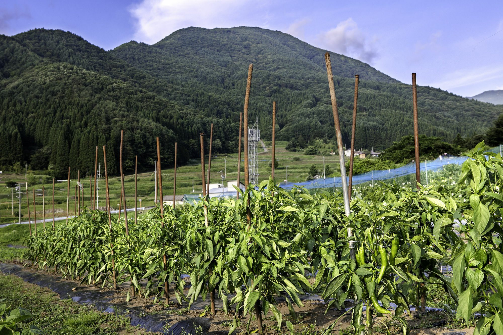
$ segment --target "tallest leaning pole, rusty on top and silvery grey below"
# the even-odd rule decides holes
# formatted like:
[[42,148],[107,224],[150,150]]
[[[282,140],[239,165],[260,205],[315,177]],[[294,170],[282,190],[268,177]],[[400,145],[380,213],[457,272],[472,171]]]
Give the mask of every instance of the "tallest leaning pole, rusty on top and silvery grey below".
[[[333,123],[336,126],[336,137],[337,137],[337,146],[339,148],[339,164],[341,165],[341,177],[343,184],[343,196],[344,196],[344,209],[346,212],[346,216],[349,216],[351,213],[350,203],[349,203],[349,194],[348,194],[348,184],[346,180],[346,166],[344,163],[344,148],[343,148],[343,137],[341,134],[341,123],[339,121],[339,111],[337,109],[337,99],[336,99],[336,88],[333,85],[333,75],[332,75],[332,64],[330,62],[330,54],[325,53],[325,64],[326,64],[326,73],[328,76],[328,88],[330,90],[330,99],[332,101],[332,113],[333,113]],[[348,228],[348,237],[353,236],[353,232],[351,228]],[[350,256],[352,259],[355,259],[355,243],[353,241],[349,242],[350,247]]]

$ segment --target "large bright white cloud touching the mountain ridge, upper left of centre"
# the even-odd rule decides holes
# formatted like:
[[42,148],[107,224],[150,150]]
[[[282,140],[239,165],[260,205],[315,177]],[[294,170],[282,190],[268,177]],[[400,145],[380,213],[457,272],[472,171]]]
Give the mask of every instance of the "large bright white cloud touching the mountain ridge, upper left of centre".
[[143,0],[130,8],[137,20],[135,39],[155,43],[190,26],[228,28],[247,23],[250,0]]

